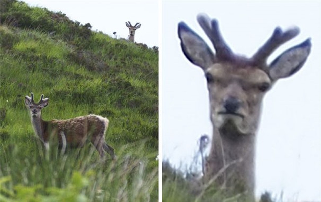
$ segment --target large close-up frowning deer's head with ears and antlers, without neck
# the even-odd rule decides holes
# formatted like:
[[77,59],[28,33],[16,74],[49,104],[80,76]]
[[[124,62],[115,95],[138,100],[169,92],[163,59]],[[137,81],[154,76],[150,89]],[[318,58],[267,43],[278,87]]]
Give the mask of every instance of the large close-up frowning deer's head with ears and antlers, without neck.
[[227,46],[215,19],[198,15],[197,21],[213,43],[215,54],[184,22],[178,25],[178,35],[184,55],[205,73],[213,126],[227,126],[239,134],[255,133],[262,98],[276,80],[299,71],[310,53],[310,39],[267,64],[276,48],[299,34],[298,28],[282,31],[277,27],[271,38],[251,58],[246,58],[235,55]]

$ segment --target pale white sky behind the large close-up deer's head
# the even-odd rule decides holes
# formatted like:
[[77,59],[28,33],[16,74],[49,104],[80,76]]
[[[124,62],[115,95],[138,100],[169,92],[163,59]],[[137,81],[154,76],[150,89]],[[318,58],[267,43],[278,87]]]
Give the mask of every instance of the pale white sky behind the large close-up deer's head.
[[252,54],[276,26],[300,28],[299,36],[281,46],[269,62],[291,46],[312,38],[312,51],[303,68],[279,80],[264,99],[257,133],[256,193],[265,190],[285,201],[321,201],[320,140],[320,1],[215,1],[162,4],[162,153],[180,166],[190,164],[197,139],[212,135],[204,73],[190,63],[180,48],[180,21],[213,47],[196,21],[207,13],[219,21],[230,48]]

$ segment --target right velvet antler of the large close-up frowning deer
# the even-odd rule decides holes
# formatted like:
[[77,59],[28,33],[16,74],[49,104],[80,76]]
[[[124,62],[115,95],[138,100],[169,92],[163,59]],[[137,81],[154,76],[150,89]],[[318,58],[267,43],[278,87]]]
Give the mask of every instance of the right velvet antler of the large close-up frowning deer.
[[255,64],[266,63],[267,58],[273,53],[275,49],[291,40],[299,34],[299,28],[294,27],[286,30],[282,33],[280,27],[276,27],[272,36],[266,41],[266,43],[259,48],[259,50],[252,56],[252,61]]

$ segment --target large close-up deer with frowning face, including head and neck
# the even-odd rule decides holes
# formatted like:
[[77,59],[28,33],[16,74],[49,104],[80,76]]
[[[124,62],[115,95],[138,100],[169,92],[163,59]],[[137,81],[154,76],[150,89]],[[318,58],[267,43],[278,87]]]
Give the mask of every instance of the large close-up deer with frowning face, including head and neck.
[[226,197],[255,201],[256,130],[263,97],[278,79],[301,69],[311,50],[311,39],[285,50],[268,64],[274,50],[299,34],[298,27],[285,31],[276,27],[252,57],[245,57],[230,49],[216,19],[198,14],[197,21],[215,54],[183,21],[178,24],[178,37],[184,55],[204,71],[207,81],[213,134],[203,180],[207,187],[212,182],[221,185]]

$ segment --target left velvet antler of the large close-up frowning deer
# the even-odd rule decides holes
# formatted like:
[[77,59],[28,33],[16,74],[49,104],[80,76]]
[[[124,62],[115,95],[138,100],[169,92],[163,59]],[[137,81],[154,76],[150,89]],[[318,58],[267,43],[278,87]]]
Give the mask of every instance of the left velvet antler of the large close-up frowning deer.
[[231,59],[233,52],[225,43],[218,27],[218,22],[215,19],[210,20],[206,14],[199,14],[197,16],[197,21],[205,31],[207,37],[210,38],[216,51],[216,57],[221,60]]

